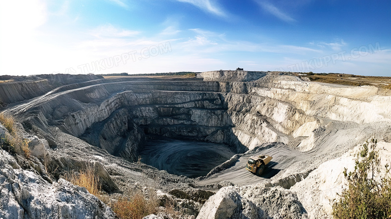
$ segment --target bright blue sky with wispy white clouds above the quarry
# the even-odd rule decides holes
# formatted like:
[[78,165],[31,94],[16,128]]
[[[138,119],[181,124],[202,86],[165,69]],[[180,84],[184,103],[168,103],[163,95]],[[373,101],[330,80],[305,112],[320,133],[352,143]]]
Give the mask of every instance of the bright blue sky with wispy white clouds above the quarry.
[[0,74],[391,76],[391,1],[2,1]]

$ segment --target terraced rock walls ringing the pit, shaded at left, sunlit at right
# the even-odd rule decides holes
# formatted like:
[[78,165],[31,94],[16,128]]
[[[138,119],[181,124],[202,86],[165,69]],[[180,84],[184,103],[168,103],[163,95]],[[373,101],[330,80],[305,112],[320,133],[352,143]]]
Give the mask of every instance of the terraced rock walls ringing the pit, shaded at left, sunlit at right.
[[265,142],[296,141],[300,150],[308,151],[315,146],[313,131],[322,127],[319,118],[390,120],[385,104],[390,97],[369,86],[333,87],[266,72],[212,71],[201,76],[219,81],[94,80],[66,85],[11,111],[32,114],[25,127],[35,124],[50,132],[48,125],[54,125],[129,160],[138,156],[144,134],[226,143],[238,153]]

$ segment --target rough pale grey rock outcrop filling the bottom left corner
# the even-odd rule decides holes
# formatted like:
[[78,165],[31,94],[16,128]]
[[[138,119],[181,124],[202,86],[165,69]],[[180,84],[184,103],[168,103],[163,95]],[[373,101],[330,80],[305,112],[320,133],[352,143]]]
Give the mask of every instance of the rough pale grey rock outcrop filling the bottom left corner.
[[111,209],[84,187],[60,179],[53,184],[21,169],[0,150],[0,217],[2,218],[114,218]]

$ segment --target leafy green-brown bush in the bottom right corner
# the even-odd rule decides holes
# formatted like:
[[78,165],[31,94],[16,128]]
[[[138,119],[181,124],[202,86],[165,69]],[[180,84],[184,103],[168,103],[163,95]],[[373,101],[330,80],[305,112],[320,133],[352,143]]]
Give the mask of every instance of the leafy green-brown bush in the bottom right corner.
[[[372,139],[362,145],[357,153],[353,172],[344,175],[348,188],[333,204],[335,218],[389,218],[391,216],[391,179],[388,164],[385,175],[380,177],[380,159],[375,150],[377,141]],[[380,179],[379,179],[380,178]]]

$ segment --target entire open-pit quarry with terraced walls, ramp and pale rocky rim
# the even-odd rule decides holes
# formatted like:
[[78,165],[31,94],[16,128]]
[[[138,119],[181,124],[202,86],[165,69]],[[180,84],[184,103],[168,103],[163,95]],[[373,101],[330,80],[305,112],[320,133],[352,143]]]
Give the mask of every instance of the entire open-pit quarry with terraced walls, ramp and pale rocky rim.
[[[0,218],[115,218],[64,179],[86,166],[113,199],[153,192],[147,218],[170,218],[168,201],[179,218],[332,218],[359,145],[376,138],[391,161],[391,93],[375,86],[251,71],[4,77],[1,110],[31,154],[0,150]],[[273,159],[259,176],[246,164],[261,154]]]

